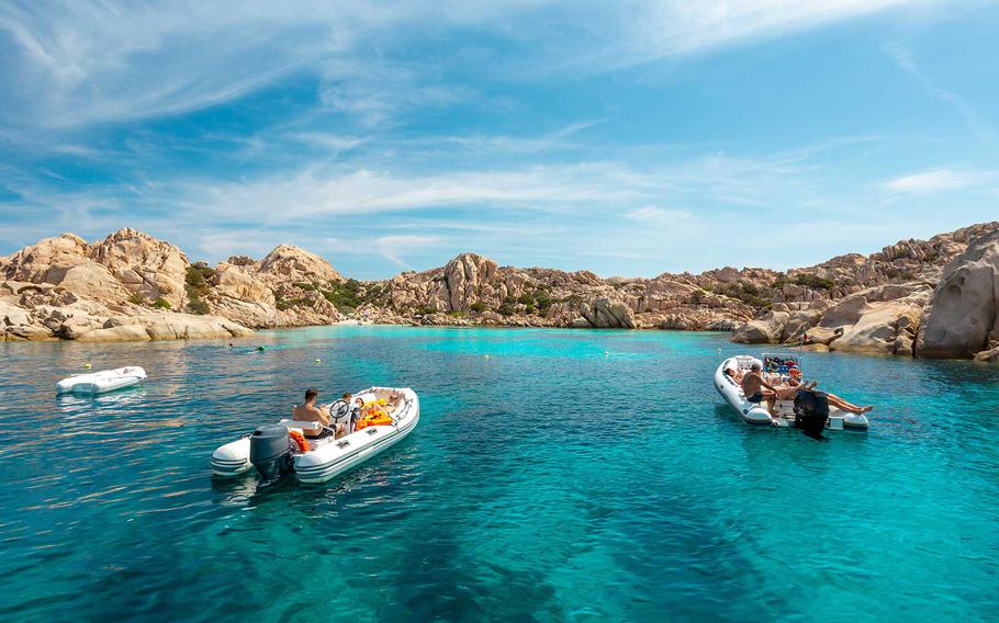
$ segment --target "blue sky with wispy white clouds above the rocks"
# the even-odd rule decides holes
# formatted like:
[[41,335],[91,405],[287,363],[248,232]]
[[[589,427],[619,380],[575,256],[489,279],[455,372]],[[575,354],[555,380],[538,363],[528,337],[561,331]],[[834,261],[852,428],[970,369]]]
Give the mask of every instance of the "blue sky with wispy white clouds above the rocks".
[[999,218],[999,5],[5,2],[0,254],[785,269]]

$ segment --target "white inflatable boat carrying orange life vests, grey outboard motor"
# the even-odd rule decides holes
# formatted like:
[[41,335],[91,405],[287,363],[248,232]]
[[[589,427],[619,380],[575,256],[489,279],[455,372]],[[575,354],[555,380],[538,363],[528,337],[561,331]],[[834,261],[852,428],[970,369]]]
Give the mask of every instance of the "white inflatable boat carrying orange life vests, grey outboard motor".
[[[399,401],[391,409],[393,395],[399,396]],[[353,394],[351,400],[358,398],[375,411],[369,411],[367,418],[357,421],[353,431],[340,439],[335,439],[328,429],[327,437],[304,438],[305,431],[323,431],[319,422],[281,420],[258,427],[252,433],[217,449],[212,454],[212,473],[237,476],[256,467],[266,479],[294,472],[303,483],[323,483],[392,448],[419,421],[419,398],[408,387],[371,387]],[[350,411],[343,408],[343,401],[338,403],[330,406],[334,421],[349,429]]]

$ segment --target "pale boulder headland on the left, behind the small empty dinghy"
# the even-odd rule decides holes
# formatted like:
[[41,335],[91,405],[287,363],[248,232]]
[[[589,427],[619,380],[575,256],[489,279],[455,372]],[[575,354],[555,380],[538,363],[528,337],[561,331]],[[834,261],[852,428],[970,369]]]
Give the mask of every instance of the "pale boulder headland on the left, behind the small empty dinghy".
[[330,298],[347,282],[328,262],[288,245],[262,261],[190,264],[180,249],[125,228],[88,245],[72,234],[0,258],[3,340],[232,338],[247,327],[343,318]]

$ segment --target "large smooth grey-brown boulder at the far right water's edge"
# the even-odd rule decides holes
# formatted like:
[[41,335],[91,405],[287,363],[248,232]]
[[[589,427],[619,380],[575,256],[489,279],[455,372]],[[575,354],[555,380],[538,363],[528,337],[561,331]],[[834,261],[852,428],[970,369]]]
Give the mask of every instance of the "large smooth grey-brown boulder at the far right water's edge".
[[946,265],[919,333],[917,354],[970,358],[999,341],[999,230]]

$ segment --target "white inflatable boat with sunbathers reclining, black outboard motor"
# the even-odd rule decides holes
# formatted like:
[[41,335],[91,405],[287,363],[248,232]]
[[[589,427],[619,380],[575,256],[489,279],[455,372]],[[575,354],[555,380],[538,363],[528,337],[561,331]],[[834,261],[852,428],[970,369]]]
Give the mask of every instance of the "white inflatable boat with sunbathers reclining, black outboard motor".
[[[759,363],[766,375],[767,382],[772,384],[788,381],[790,371],[798,369],[798,361],[794,355],[764,355],[766,362],[760,361],[752,355],[737,355],[721,362],[721,365],[715,371],[715,388],[725,398],[725,401],[748,424],[775,426],[785,428],[795,427],[795,404],[794,400],[777,400],[775,416],[771,416],[766,409],[766,401],[750,403],[742,393],[742,384],[737,382],[732,376],[726,374],[731,371],[732,375],[745,374],[750,371],[753,363]],[[799,422],[800,423],[800,422]],[[829,406],[829,418],[826,420],[827,430],[867,430],[867,416],[843,411],[835,407]]]

